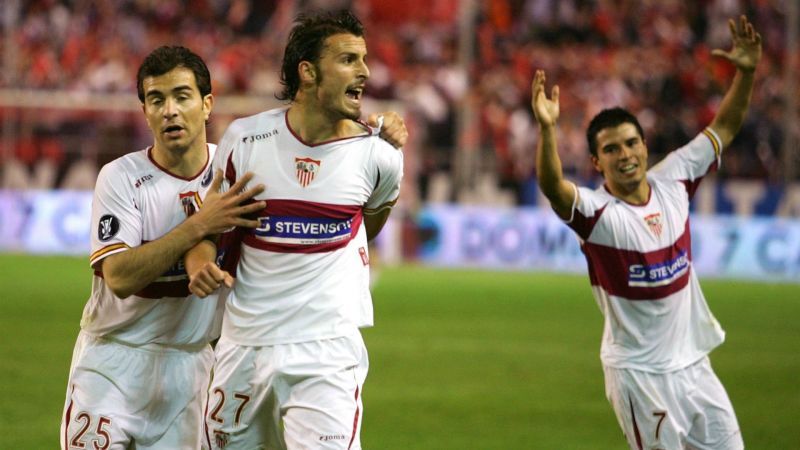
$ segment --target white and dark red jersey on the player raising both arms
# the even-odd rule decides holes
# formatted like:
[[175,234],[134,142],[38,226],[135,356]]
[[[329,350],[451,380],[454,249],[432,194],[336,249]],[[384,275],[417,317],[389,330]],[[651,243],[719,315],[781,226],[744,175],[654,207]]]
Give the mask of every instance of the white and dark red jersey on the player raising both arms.
[[722,343],[692,268],[689,202],[716,170],[721,143],[710,128],[647,173],[650,198],[631,205],[579,188],[568,223],[581,239],[592,291],[605,316],[603,364],[648,372],[686,367]]

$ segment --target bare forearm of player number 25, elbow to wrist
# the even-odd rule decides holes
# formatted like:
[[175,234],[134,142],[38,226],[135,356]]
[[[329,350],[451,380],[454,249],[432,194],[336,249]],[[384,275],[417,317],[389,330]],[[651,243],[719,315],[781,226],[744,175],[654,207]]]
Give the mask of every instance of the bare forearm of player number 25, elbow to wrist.
[[103,277],[114,295],[129,297],[174,266],[203,237],[202,228],[192,225],[181,224],[159,239],[107,257]]

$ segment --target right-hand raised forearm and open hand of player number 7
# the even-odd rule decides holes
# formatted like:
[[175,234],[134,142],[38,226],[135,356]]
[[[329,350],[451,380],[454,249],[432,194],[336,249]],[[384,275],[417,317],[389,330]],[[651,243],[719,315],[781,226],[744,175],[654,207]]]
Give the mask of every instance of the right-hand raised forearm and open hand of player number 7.
[[750,107],[750,96],[753,93],[753,80],[758,61],[761,59],[761,35],[753,28],[747,17],[739,18],[739,26],[733,19],[728,21],[733,39],[733,48],[726,52],[715,49],[711,52],[730,61],[736,66],[736,76],[722,99],[717,115],[711,122],[711,129],[717,132],[723,147],[727,147],[744,122],[744,116]]

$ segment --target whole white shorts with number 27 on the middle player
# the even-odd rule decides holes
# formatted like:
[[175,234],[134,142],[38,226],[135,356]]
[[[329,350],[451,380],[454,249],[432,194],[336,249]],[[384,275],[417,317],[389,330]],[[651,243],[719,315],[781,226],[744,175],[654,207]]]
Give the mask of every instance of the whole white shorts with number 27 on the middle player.
[[212,449],[359,450],[369,361],[361,334],[263,347],[220,340],[206,412]]

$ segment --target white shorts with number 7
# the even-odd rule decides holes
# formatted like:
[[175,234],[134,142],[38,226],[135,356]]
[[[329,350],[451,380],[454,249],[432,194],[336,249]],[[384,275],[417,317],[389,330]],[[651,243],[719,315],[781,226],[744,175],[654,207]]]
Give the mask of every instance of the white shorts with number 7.
[[744,448],[731,401],[707,357],[663,374],[604,371],[606,396],[631,449]]

